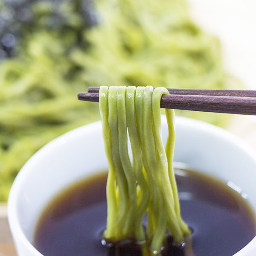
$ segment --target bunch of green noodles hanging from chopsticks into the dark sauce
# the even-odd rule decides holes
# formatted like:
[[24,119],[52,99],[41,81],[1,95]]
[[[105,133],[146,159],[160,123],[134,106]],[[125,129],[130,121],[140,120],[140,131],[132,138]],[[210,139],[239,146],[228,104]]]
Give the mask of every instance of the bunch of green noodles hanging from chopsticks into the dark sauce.
[[[172,167],[174,111],[166,109],[168,138],[161,137],[160,99],[168,90],[158,87],[100,87],[99,108],[109,162],[107,228],[111,241],[147,241],[149,252],[160,252],[166,229],[181,243],[189,228],[180,216]],[[128,154],[128,134],[133,160]],[[147,212],[146,236],[142,218]],[[145,254],[145,248],[143,250]],[[147,255],[147,254],[145,254]]]

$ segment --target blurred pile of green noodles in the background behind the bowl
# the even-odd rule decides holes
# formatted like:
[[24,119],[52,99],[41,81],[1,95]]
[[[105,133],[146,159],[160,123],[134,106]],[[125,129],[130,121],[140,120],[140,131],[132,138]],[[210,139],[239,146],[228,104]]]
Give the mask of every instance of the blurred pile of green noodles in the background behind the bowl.
[[[0,201],[35,151],[99,119],[97,103],[76,98],[89,86],[239,87],[224,73],[218,39],[192,22],[184,0],[97,0],[96,10],[88,0],[28,2],[33,18],[0,62]],[[176,114],[221,126],[228,119]]]

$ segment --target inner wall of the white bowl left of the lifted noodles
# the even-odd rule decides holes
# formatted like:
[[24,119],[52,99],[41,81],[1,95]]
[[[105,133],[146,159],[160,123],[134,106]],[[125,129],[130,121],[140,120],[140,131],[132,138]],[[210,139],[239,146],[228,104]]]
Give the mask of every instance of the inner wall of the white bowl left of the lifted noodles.
[[38,216],[55,194],[107,166],[100,123],[70,131],[41,148],[17,177],[17,217],[26,238],[32,241]]

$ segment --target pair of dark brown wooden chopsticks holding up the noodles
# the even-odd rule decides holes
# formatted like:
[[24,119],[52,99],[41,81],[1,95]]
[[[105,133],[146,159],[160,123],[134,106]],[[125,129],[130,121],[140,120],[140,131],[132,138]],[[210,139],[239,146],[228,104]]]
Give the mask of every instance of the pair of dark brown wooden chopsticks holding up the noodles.
[[[167,89],[161,108],[191,111],[256,115],[255,90]],[[88,93],[78,93],[79,100],[99,102],[99,87],[89,87]]]

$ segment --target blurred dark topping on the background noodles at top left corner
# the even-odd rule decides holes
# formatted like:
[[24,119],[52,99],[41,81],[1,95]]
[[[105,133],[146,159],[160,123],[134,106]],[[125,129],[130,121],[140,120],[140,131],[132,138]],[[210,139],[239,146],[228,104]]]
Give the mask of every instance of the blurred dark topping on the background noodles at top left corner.
[[0,60],[17,55],[26,33],[68,31],[81,44],[81,31],[97,23],[92,0],[3,0],[0,10]]

